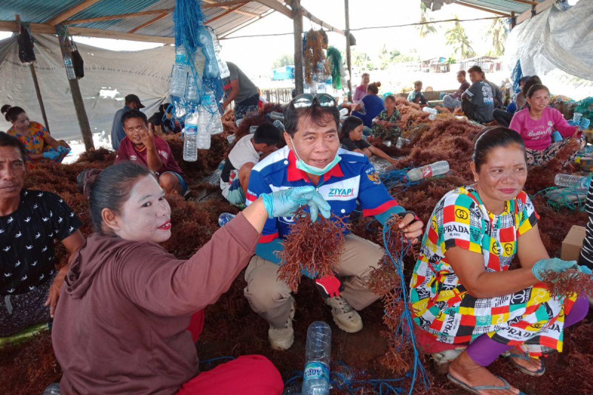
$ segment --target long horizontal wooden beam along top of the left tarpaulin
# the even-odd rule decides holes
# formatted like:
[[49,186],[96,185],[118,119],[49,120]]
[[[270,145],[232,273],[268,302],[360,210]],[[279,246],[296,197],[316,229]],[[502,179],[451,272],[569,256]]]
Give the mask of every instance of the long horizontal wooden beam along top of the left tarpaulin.
[[[52,27],[46,23],[30,23],[29,27],[31,28],[31,33],[56,34],[55,27]],[[14,21],[0,21],[0,30],[16,32],[17,23]],[[68,32],[71,34],[71,36],[114,38],[116,40],[144,41],[148,43],[162,44],[175,43],[175,37],[146,36],[145,34],[132,34],[124,31],[91,29],[88,27],[71,26],[68,28]]]

